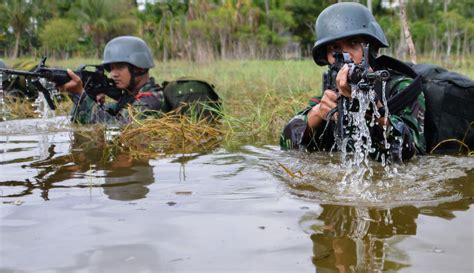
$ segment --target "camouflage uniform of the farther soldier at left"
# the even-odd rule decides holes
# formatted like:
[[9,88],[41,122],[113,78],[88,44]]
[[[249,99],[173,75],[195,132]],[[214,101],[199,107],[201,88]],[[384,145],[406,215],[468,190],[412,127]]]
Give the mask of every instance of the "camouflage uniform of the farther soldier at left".
[[128,95],[123,91],[119,101],[100,105],[85,92],[81,96],[72,97],[72,121],[80,124],[109,123],[125,125],[130,122],[128,105],[134,107],[140,117],[158,116],[168,112],[169,106],[165,102],[163,89],[153,78],[140,88],[136,96]]

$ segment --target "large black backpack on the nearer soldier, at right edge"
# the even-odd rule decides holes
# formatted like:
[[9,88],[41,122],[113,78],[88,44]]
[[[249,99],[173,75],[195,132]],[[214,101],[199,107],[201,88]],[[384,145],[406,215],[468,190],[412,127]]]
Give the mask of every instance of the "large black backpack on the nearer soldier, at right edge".
[[[422,78],[427,152],[474,150],[474,80],[433,64],[412,68]],[[453,141],[454,140],[454,141]]]

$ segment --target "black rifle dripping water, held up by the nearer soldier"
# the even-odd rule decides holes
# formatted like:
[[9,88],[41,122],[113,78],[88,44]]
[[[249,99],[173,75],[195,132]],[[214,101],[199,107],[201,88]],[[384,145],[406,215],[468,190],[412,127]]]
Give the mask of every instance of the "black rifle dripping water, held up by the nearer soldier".
[[[360,64],[355,64],[349,53],[336,51],[333,53],[335,62],[329,66],[329,70],[323,74],[323,92],[325,90],[334,90],[337,92],[336,76],[339,70],[347,64],[349,72],[347,75],[348,83],[356,86],[356,89],[368,92],[373,89],[377,81],[386,81],[390,78],[390,72],[387,70],[372,71],[369,66],[369,46],[363,46],[363,58]],[[347,119],[344,117],[344,109],[349,109],[350,103],[347,98],[340,96],[337,100],[337,108],[328,113],[327,120],[338,112],[337,133],[338,137],[344,137],[344,123]]]

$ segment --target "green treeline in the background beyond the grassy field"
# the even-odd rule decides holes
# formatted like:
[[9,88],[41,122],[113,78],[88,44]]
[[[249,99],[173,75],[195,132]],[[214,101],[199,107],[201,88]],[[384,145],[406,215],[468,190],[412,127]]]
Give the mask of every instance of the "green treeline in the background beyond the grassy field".
[[[146,2],[146,3],[142,3]],[[100,57],[111,38],[137,35],[157,59],[299,58],[318,14],[337,0],[3,0],[0,56]],[[360,0],[404,54],[398,0]],[[470,56],[474,0],[406,0],[418,54]]]

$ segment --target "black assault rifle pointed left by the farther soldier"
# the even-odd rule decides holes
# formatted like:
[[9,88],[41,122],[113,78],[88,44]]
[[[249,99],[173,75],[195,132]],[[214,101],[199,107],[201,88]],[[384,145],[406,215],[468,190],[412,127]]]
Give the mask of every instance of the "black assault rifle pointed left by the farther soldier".
[[[13,75],[25,77],[28,84],[33,85],[43,93],[49,108],[55,110],[56,105],[54,104],[51,90],[45,88],[39,80],[43,78],[55,83],[56,86],[61,86],[70,81],[71,77],[69,77],[66,69],[49,68],[45,63],[46,57],[30,71],[0,68],[0,73],[3,73],[6,77]],[[81,78],[86,94],[94,99],[98,94],[104,93],[118,100],[122,94],[122,91],[115,87],[114,81],[107,78],[105,69],[101,65],[81,65],[74,73]]]

